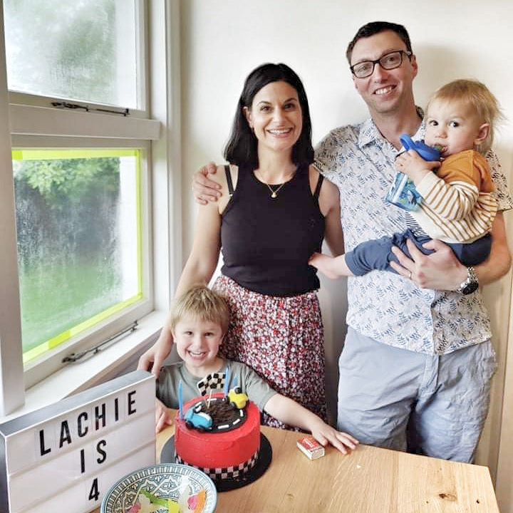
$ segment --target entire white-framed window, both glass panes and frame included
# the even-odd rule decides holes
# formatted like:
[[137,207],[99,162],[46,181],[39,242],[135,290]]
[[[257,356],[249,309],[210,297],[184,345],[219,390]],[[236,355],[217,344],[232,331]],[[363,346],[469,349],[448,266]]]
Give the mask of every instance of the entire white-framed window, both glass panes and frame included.
[[181,257],[177,2],[3,7],[0,415],[66,356],[165,313]]

